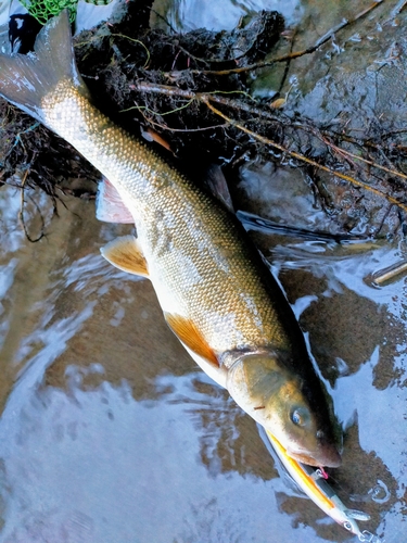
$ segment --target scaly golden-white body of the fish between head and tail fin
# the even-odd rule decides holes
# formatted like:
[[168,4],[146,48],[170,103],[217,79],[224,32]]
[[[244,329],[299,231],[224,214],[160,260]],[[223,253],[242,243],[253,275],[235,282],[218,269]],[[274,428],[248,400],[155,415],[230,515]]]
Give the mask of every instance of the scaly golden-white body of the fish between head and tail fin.
[[[192,319],[216,353],[290,349],[252,251],[227,211],[102,115],[71,81],[47,93],[41,106],[46,124],[131,201],[164,311]],[[183,255],[192,265],[180,265]]]

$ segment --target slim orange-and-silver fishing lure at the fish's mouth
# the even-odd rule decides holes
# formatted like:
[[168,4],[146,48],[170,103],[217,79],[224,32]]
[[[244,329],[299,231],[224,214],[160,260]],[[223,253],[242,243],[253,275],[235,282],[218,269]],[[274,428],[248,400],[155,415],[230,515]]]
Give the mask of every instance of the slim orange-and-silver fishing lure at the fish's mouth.
[[268,442],[276,452],[278,458],[292,477],[298,488],[329,517],[342,526],[345,530],[357,535],[359,541],[381,543],[381,539],[368,530],[360,530],[357,520],[368,521],[370,515],[346,507],[328,483],[328,475],[325,471],[302,464],[291,458],[279,441],[269,432],[265,431]]

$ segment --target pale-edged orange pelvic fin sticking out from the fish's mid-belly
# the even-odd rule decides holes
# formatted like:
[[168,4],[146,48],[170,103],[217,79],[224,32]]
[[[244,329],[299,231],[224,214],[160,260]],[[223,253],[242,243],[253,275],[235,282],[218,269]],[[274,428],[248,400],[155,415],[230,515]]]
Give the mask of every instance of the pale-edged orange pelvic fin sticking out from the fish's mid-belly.
[[133,236],[117,238],[102,247],[100,252],[116,268],[129,274],[149,277],[147,261]]

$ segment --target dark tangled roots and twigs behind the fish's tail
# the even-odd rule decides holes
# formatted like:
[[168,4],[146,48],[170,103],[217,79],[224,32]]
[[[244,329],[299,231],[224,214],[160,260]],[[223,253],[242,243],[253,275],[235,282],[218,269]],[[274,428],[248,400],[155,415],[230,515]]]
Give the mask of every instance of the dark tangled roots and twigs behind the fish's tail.
[[[231,31],[166,34],[149,28],[151,4],[129,2],[122,22],[103,23],[74,40],[79,72],[101,111],[137,136],[161,139],[187,173],[193,175],[196,160],[219,164],[231,192],[239,167],[262,157],[301,168],[316,203],[335,216],[340,231],[351,231],[360,217],[370,220],[366,216],[385,202],[386,216],[398,210],[397,224],[404,224],[407,130],[378,122],[356,137],[340,119],[320,123],[285,109],[290,90],[257,100],[250,94],[262,67],[311,54],[332,33],[295,52],[283,37],[281,15],[263,11]],[[290,50],[274,55],[281,41]],[[22,187],[24,178],[26,188],[39,187],[54,202],[59,190],[94,194],[99,173],[68,143],[3,101],[0,115],[2,184]],[[355,188],[346,203],[344,184]],[[373,218],[370,233],[380,236],[385,219]]]

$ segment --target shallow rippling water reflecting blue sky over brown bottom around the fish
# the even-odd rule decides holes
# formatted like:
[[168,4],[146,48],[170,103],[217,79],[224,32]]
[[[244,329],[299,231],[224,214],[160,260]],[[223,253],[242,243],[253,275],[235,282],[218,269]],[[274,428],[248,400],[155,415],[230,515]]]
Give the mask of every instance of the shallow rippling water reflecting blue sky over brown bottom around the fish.
[[[292,2],[292,16],[314,4]],[[276,199],[257,174],[242,172],[249,211],[330,230],[298,184],[282,173]],[[21,194],[0,191],[0,542],[355,541],[297,491],[256,425],[190,359],[149,281],[101,258],[99,248],[129,228],[98,223],[93,203],[74,199],[51,219],[46,197],[27,197],[46,218],[37,243],[18,220]],[[404,541],[407,278],[374,288],[369,276],[406,248],[252,235],[344,429],[331,483],[371,515],[361,528]]]

